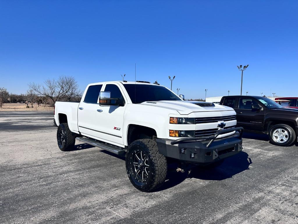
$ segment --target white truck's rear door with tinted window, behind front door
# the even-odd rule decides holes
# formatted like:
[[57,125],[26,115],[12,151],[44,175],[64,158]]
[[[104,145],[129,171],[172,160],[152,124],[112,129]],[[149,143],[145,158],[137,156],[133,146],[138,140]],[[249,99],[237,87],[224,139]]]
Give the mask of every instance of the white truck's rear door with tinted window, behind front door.
[[96,114],[99,109],[98,96],[103,85],[90,85],[77,111],[79,131],[83,135],[96,137]]

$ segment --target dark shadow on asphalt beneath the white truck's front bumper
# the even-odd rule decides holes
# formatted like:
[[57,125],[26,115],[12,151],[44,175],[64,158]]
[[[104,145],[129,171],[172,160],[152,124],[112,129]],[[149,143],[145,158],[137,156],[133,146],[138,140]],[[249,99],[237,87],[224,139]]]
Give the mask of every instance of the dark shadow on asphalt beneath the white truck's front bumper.
[[161,188],[157,189],[157,191],[174,187],[183,182],[186,178],[202,180],[224,180],[232,178],[236,174],[249,170],[250,164],[252,164],[252,160],[249,158],[249,155],[241,151],[235,156],[225,159],[224,162],[217,167],[197,166],[192,168],[189,172],[168,172],[167,181]]

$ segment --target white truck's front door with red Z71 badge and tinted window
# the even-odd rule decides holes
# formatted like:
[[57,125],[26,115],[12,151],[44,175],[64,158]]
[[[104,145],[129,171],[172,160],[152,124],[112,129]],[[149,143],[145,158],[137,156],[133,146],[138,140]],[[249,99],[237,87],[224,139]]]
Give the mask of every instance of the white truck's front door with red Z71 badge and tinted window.
[[110,92],[111,98],[124,100],[121,106],[98,106],[95,126],[100,140],[123,147],[123,117],[127,100],[121,86],[108,83],[103,91]]

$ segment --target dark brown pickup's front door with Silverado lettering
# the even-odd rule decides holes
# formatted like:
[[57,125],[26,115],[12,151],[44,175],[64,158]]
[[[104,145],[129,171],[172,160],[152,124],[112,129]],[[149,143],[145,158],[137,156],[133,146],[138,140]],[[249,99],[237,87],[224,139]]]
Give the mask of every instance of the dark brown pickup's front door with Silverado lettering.
[[[256,105],[261,107],[261,110],[252,109]],[[238,97],[235,108],[237,116],[237,126],[243,127],[247,131],[263,131],[265,110],[257,100],[252,97]]]

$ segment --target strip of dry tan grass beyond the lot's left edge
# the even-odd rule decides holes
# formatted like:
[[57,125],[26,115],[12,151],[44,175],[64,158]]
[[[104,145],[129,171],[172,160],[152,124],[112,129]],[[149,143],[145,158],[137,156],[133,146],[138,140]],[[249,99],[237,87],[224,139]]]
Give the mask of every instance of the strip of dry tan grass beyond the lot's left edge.
[[31,108],[31,104],[28,104],[30,108],[26,108],[26,103],[4,103],[2,108],[0,108],[1,111],[54,111],[54,108],[50,105],[46,105],[44,107],[43,105],[37,105],[37,103],[33,104],[33,108]]

